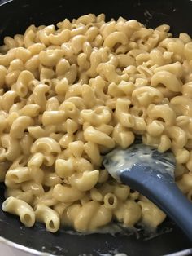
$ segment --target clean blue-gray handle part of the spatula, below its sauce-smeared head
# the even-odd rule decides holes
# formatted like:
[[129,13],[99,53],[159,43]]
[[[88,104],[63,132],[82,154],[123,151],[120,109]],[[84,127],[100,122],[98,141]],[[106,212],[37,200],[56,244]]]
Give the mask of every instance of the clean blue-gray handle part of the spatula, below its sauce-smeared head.
[[192,203],[181,193],[176,183],[169,183],[156,173],[145,175],[140,168],[134,166],[134,170],[124,170],[120,174],[122,183],[141,192],[158,205],[192,241]]

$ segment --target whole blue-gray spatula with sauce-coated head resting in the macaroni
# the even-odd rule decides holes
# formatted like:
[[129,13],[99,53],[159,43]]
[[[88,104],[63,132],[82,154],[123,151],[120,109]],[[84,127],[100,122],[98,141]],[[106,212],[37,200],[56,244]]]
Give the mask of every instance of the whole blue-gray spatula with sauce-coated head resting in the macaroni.
[[103,161],[116,180],[129,185],[153,201],[174,220],[192,241],[192,203],[174,182],[175,159],[172,152],[136,141],[129,148],[116,148]]

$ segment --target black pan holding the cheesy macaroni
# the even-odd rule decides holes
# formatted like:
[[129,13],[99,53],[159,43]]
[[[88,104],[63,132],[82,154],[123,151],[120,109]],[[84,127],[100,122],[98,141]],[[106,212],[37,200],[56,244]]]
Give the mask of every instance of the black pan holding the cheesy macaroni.
[[[2,3],[1,0],[0,3]],[[170,24],[172,33],[176,36],[180,32],[192,34],[192,2],[190,0],[14,0],[0,6],[0,42],[7,35],[24,33],[30,24],[55,24],[66,17],[71,20],[90,12],[95,14],[103,12],[107,20],[121,15],[128,20],[139,20],[152,28],[159,24]],[[0,205],[4,200],[3,191],[2,184]],[[0,236],[16,244],[54,255],[90,256],[124,253],[129,256],[159,256],[191,247],[190,241],[177,228],[177,225],[169,220],[159,227],[158,232],[159,236],[150,240],[142,231],[139,232],[140,238],[135,234],[130,236],[123,234],[70,235],[63,230],[52,234],[46,232],[43,225],[39,223],[33,228],[26,228],[18,218],[0,210]],[[0,255],[2,255],[1,252]]]

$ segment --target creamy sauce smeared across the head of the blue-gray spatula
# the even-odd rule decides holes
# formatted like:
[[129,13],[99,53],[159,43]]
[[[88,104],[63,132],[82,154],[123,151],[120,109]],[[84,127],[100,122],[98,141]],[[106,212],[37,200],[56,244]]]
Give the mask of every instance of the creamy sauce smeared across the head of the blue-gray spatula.
[[133,166],[145,167],[150,173],[157,170],[157,177],[161,179],[164,174],[174,178],[175,160],[172,152],[160,153],[156,148],[142,143],[134,143],[131,147],[123,150],[116,148],[105,156],[103,165],[111,176],[120,181],[120,173],[131,170]]

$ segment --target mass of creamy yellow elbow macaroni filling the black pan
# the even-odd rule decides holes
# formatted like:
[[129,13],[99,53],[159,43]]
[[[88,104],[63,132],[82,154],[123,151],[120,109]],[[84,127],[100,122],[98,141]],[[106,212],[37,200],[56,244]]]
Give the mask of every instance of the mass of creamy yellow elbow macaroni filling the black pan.
[[0,47],[2,210],[56,232],[94,231],[116,219],[157,227],[165,214],[102,168],[135,135],[175,154],[192,201],[192,41],[168,25],[84,15],[31,25]]

